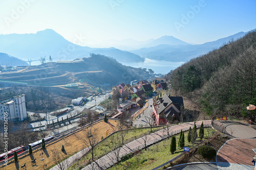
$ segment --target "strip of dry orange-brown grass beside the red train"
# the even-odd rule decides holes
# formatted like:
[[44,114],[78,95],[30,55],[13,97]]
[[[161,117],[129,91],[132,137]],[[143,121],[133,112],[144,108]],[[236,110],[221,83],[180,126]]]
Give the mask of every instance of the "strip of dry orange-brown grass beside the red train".
[[[112,124],[112,126],[115,128],[119,124],[118,120],[109,120],[109,122]],[[96,123],[93,125],[93,128],[98,130],[97,136],[98,136],[98,141],[101,140],[101,136],[105,137],[106,130],[110,129],[110,125],[107,123],[104,123],[104,121],[100,121],[99,123]],[[46,149],[44,150],[44,155],[43,158],[45,159],[44,161],[40,161],[41,156],[39,154],[41,153],[40,150],[33,151],[32,155],[26,154],[22,157],[18,157],[18,162],[14,163],[14,160],[10,161],[8,163],[8,166],[5,166],[5,170],[15,170],[15,169],[20,169],[22,165],[26,163],[27,169],[44,169],[43,166],[44,164],[47,164],[47,167],[52,166],[53,160],[52,160],[52,152],[54,148],[59,150],[61,152],[61,146],[62,144],[65,147],[65,150],[67,152],[67,157],[70,155],[75,154],[77,151],[82,150],[84,147],[84,144],[81,140],[78,140],[76,136],[83,135],[82,131],[76,132],[75,134],[71,134],[65,138],[61,138],[56,142],[51,143],[50,145],[46,145]],[[31,160],[36,158],[36,164],[32,166]],[[2,169],[2,166],[1,168]]]

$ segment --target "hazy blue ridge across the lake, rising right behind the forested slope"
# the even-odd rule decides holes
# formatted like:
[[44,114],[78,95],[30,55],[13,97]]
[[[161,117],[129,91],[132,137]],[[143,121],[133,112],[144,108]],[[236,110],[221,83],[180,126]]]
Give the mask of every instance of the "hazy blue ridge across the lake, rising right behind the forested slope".
[[195,45],[187,44],[187,43],[180,44],[180,45],[160,44],[154,47],[140,48],[139,50],[134,50],[130,52],[144,58],[149,58],[149,59],[186,62],[192,58],[198,57],[200,55],[204,55],[211,50],[219,48],[223,44],[228,43],[230,40],[237,40],[245,36],[247,33],[248,32],[239,32],[237,34],[234,34],[225,38],[221,38],[216,41],[206,42],[203,44],[195,44]]

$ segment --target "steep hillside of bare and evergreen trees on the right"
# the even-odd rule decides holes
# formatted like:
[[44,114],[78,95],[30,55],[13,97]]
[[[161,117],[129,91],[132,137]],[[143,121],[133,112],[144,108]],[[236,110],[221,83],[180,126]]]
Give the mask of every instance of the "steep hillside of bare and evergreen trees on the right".
[[245,106],[256,105],[256,32],[183,64],[169,83],[176,94],[200,102],[208,115],[254,118]]

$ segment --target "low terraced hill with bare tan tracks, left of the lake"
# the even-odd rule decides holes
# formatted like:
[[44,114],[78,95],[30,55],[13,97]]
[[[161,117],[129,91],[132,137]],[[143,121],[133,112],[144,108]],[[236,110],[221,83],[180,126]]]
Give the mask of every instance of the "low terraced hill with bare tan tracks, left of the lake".
[[121,82],[130,83],[135,79],[143,79],[141,75],[148,72],[127,67],[115,59],[102,55],[91,54],[72,63],[44,63],[29,66],[22,71],[7,72],[0,75],[0,80],[24,82],[36,86],[56,86],[75,83],[82,80],[91,85],[101,86],[104,83],[117,85]]

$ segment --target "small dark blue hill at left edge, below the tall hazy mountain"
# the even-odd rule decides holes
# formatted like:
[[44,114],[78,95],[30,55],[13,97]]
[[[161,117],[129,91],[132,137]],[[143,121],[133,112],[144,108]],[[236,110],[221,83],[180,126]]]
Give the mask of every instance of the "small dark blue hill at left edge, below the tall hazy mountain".
[[0,65],[2,66],[26,66],[29,65],[26,61],[10,56],[6,53],[0,53]]

